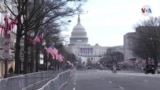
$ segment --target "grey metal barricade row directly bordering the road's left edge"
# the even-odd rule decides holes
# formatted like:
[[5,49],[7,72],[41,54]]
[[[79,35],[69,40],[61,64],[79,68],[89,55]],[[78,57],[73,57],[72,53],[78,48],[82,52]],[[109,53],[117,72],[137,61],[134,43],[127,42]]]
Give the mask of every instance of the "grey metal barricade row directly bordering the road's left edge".
[[73,74],[74,74],[74,70],[69,70],[69,71],[59,73],[57,77],[50,80],[48,83],[46,83],[44,86],[42,86],[38,90],[60,90],[68,82],[68,80],[73,76]]

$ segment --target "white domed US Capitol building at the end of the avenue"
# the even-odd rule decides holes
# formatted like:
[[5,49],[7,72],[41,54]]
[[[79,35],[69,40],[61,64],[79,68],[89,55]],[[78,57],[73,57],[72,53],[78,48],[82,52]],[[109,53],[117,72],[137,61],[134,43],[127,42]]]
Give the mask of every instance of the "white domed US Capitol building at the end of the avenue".
[[80,22],[80,15],[78,15],[77,25],[73,28],[70,44],[66,46],[66,49],[74,53],[85,64],[87,60],[97,63],[107,51],[107,47],[88,44],[87,32]]

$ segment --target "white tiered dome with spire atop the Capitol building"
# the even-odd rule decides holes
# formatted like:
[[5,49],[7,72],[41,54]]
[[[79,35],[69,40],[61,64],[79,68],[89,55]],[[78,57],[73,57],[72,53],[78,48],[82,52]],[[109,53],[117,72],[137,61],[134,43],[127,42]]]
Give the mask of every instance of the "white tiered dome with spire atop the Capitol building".
[[77,25],[73,28],[70,38],[70,44],[88,44],[88,37],[85,28],[81,25],[80,15],[78,15]]

